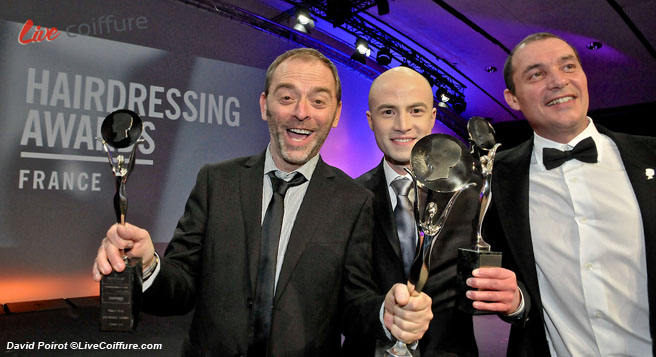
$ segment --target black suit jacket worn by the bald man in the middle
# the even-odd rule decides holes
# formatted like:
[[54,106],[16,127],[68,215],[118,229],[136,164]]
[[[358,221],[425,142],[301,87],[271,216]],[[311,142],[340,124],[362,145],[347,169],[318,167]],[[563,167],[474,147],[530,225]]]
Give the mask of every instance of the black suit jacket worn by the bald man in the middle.
[[[374,194],[372,278],[379,293],[385,294],[395,283],[405,284],[407,279],[382,161],[377,167],[357,178],[356,182]],[[440,208],[446,204],[448,197],[450,195],[441,197],[438,202]],[[468,189],[458,198],[431,256],[430,275],[424,292],[433,299],[434,317],[419,342],[422,356],[478,354],[472,316],[455,306],[458,248],[472,248],[475,244],[472,219],[477,215],[477,197],[477,189]],[[380,308],[380,305],[377,307]],[[376,321],[371,323],[380,328],[377,313],[375,317]],[[387,340],[382,328],[368,336],[347,335],[344,352],[353,356],[372,356],[377,338]],[[391,342],[389,345],[391,346]]]

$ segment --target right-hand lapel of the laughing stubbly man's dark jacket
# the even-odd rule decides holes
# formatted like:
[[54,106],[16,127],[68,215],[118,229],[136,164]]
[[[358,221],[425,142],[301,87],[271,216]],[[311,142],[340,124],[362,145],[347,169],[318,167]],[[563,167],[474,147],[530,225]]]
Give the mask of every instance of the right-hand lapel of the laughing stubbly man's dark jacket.
[[325,210],[318,209],[322,202],[330,202],[335,190],[334,175],[328,166],[319,157],[317,167],[314,169],[310,184],[303,197],[303,202],[294,220],[294,227],[287,243],[287,251],[278,276],[276,294],[273,299],[274,305],[278,303],[280,296],[284,293],[289,279],[292,276],[298,260],[308,242],[312,239],[317,226],[322,224]]

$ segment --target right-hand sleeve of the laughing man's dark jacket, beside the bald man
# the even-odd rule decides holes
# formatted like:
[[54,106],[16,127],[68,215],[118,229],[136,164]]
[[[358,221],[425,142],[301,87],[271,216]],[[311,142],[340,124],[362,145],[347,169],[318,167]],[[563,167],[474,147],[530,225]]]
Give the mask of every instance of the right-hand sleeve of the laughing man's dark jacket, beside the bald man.
[[373,195],[368,192],[351,234],[344,265],[341,330],[348,338],[385,338],[379,312],[385,295],[373,278]]

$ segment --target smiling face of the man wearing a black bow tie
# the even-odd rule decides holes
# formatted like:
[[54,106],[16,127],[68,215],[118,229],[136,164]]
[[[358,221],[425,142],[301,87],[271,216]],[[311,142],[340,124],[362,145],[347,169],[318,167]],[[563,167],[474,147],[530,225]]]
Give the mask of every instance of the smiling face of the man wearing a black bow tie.
[[512,58],[514,93],[508,105],[521,110],[535,132],[567,143],[588,125],[588,81],[574,50],[547,38],[519,47]]

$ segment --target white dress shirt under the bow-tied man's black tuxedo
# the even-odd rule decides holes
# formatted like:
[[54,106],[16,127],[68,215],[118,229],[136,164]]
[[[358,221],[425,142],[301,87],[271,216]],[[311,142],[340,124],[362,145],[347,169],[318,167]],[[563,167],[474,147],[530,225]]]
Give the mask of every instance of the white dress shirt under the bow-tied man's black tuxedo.
[[[543,148],[592,137],[598,162],[546,170]],[[651,356],[642,218],[615,143],[592,120],[568,144],[535,135],[529,217],[552,356]]]

